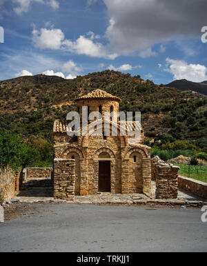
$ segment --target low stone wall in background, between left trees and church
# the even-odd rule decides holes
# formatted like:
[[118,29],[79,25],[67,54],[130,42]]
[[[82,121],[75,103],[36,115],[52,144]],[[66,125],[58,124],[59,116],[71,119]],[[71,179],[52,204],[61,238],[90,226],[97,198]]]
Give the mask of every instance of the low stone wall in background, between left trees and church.
[[41,168],[41,167],[28,167],[24,174],[24,179],[35,179],[35,178],[51,178],[52,167]]

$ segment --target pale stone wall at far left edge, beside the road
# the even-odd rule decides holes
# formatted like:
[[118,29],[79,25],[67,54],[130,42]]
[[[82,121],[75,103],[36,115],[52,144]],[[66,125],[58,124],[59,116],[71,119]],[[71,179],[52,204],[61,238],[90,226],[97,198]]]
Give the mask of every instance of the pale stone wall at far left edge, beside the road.
[[10,201],[19,193],[19,176],[10,168],[0,169],[0,204]]

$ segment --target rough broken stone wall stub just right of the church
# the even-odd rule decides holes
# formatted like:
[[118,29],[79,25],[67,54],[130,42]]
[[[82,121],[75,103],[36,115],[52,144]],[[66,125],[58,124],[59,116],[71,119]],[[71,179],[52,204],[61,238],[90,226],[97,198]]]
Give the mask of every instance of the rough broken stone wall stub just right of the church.
[[152,158],[152,178],[156,181],[156,198],[177,198],[179,167]]

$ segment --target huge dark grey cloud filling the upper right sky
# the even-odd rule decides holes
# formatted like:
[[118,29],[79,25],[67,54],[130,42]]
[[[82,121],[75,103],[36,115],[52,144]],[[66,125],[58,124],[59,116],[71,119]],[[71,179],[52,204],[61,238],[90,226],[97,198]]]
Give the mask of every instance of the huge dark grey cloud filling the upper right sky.
[[206,25],[206,0],[103,1],[110,17],[106,37],[117,54],[146,50],[180,36],[199,38]]

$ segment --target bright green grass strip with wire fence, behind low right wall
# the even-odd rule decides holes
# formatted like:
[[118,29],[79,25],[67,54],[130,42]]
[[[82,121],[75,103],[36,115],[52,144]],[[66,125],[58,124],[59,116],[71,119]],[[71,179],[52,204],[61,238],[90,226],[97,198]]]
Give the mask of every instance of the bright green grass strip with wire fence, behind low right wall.
[[182,176],[187,176],[202,182],[207,183],[207,166],[206,165],[181,165],[177,164],[179,169],[179,174]]

